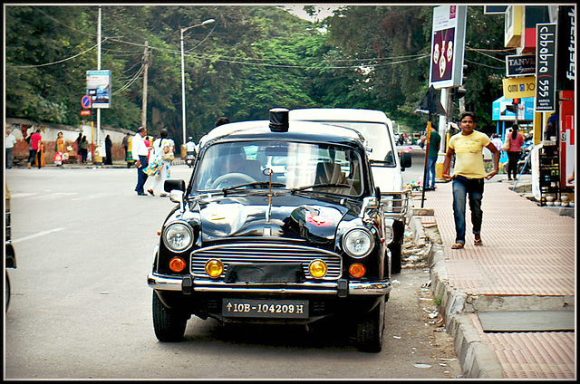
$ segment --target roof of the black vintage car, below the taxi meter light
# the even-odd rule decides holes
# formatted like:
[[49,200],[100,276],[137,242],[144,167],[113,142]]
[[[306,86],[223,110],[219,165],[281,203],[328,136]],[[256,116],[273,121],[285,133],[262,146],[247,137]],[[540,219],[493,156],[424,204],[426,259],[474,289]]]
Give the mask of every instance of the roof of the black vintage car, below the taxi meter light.
[[220,125],[199,140],[200,146],[214,139],[283,139],[356,145],[364,139],[356,130],[312,121],[290,121],[286,132],[270,130],[269,120],[239,121]]

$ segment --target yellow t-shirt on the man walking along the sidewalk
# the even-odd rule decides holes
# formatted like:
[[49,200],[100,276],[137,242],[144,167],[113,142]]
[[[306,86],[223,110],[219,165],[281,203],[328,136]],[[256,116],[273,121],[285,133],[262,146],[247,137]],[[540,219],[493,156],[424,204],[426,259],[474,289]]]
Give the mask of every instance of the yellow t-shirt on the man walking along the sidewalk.
[[483,147],[491,140],[488,135],[474,130],[469,136],[459,132],[449,139],[449,148],[455,150],[455,168],[453,176],[466,178],[485,178],[488,176],[483,164]]

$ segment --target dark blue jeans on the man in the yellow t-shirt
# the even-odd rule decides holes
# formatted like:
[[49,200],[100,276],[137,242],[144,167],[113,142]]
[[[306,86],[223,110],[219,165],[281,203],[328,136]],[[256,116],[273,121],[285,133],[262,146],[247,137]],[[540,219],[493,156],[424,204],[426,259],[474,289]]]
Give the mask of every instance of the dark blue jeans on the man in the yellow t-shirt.
[[481,233],[481,199],[483,198],[483,178],[453,178],[453,216],[455,216],[455,242],[465,245],[465,198],[469,195],[469,210],[473,235]]

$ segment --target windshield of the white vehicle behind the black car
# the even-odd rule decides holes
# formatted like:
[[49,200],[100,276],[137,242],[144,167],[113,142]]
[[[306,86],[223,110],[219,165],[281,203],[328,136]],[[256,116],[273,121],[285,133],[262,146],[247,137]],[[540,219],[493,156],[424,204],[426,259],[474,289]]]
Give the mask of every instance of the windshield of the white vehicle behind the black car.
[[369,159],[382,161],[387,166],[396,166],[395,158],[389,137],[389,130],[382,122],[353,122],[353,121],[322,121],[327,124],[351,128],[362,134],[366,145],[372,148]]

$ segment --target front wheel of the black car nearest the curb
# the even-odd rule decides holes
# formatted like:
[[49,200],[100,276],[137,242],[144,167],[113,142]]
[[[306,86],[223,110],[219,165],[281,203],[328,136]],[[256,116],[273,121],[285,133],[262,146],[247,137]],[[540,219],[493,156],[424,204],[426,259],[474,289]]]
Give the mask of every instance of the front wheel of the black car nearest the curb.
[[356,344],[362,352],[378,353],[382,350],[384,334],[385,301],[380,300],[376,307],[368,312],[356,324]]

